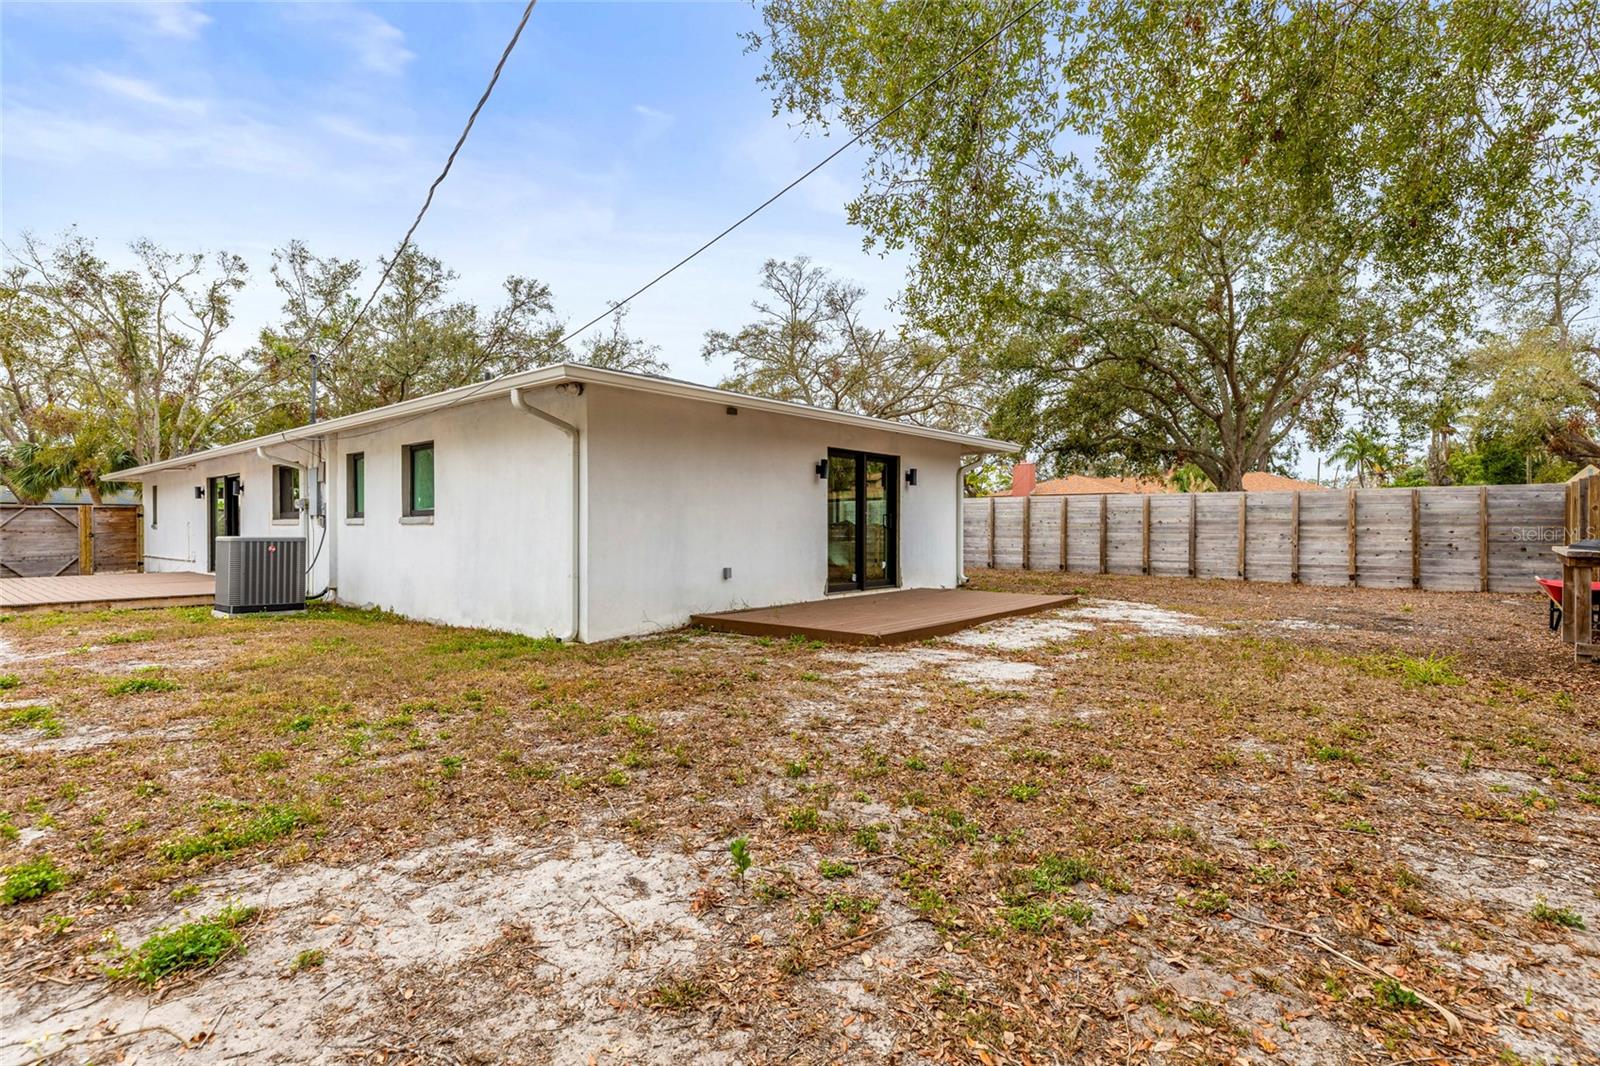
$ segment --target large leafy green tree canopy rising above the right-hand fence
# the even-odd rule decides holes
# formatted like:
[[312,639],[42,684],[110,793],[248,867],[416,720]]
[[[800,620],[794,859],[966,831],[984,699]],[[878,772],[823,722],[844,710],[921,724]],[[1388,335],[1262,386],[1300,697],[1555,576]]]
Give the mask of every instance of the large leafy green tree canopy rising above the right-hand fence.
[[1584,3],[762,11],[774,106],[864,133],[850,216],[912,253],[909,309],[1002,352],[998,427],[1064,458],[1237,488],[1331,442],[1595,174]]

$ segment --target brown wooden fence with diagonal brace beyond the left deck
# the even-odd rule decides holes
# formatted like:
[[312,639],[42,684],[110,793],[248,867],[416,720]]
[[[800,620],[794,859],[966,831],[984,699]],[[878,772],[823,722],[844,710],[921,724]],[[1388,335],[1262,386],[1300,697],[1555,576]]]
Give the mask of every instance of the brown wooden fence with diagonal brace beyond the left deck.
[[0,504],[0,579],[144,568],[144,507]]

